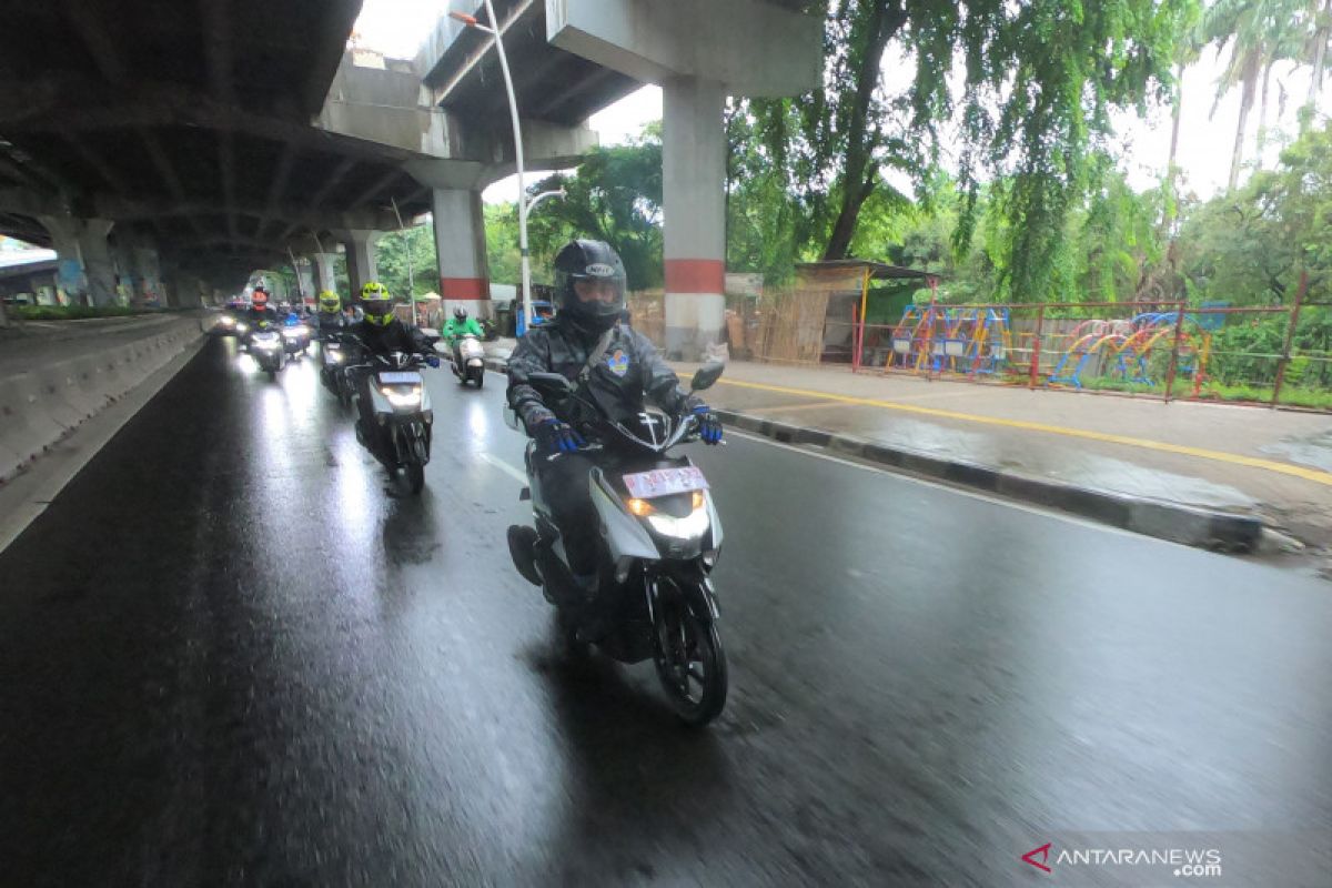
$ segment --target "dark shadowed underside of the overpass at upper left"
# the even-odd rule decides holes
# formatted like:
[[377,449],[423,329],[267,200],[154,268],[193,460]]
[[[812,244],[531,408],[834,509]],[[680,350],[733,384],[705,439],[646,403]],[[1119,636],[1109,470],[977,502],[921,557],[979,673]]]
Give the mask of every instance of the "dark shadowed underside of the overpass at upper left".
[[[0,233],[48,245],[25,206],[116,220],[164,260],[236,276],[326,220],[429,209],[406,152],[324,132],[361,0],[51,0],[0,28]],[[15,208],[17,206],[17,212]],[[329,241],[325,240],[328,249]]]

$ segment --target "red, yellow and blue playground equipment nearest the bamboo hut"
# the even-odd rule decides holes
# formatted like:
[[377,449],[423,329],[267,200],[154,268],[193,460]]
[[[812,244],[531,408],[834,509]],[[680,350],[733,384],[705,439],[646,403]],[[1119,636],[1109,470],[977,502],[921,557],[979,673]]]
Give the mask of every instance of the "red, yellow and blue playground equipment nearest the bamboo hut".
[[1012,353],[1003,306],[908,305],[892,329],[887,367],[916,373],[1000,373]]

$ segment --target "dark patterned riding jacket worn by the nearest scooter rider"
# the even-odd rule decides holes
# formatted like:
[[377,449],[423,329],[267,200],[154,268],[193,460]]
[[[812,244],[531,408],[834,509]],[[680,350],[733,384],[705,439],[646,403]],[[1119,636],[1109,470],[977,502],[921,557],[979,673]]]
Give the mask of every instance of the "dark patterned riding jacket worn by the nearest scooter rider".
[[[570,413],[575,407],[557,405],[557,411],[547,406],[541,394],[527,385],[529,374],[559,373],[574,381],[599,339],[599,334],[582,330],[559,317],[531,328],[518,339],[518,347],[509,357],[509,403],[522,418],[529,434],[551,417],[571,425],[583,418]],[[679,377],[647,337],[622,325],[614,328],[610,345],[587,381],[579,386],[579,394],[619,422],[639,413],[646,398],[673,415],[702,403],[681,390]]]

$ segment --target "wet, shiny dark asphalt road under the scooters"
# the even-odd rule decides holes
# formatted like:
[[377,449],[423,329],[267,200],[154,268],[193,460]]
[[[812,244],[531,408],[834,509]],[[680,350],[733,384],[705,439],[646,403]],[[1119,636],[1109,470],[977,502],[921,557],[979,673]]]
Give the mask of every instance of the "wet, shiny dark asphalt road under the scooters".
[[1332,835],[1325,583],[733,437],[691,732],[513,570],[502,379],[430,385],[396,499],[313,362],[212,342],[0,554],[0,884],[1039,884],[1058,831]]

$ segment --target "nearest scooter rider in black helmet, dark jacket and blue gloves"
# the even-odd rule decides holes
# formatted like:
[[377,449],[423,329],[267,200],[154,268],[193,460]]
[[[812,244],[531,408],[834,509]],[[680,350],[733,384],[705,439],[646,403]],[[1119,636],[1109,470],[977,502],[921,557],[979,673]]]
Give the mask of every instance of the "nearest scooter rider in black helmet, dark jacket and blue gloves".
[[[619,324],[625,309],[625,265],[609,244],[570,241],[555,256],[553,321],[527,330],[509,358],[509,403],[537,441],[537,474],[575,583],[586,594],[597,584],[597,513],[587,474],[593,461],[575,426],[577,405],[547,405],[527,379],[533,373],[559,373],[577,393],[610,419],[625,421],[643,409],[645,397],[679,417],[693,413],[706,443],[722,441],[722,423],[698,397],[679,387],[679,378],[641,333]],[[523,527],[535,545],[537,534]],[[529,576],[529,579],[531,579]]]

